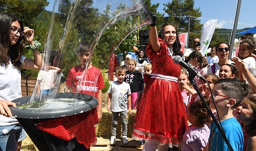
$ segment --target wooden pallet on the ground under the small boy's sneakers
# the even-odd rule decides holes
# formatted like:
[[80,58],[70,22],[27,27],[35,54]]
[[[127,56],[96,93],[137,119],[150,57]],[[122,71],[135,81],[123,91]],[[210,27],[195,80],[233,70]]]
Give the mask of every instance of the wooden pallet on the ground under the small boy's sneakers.
[[115,145],[110,145],[110,137],[97,137],[97,143],[91,147],[91,151],[141,151],[143,145],[139,145],[138,141],[127,138],[129,143],[123,144],[122,139],[115,139]]

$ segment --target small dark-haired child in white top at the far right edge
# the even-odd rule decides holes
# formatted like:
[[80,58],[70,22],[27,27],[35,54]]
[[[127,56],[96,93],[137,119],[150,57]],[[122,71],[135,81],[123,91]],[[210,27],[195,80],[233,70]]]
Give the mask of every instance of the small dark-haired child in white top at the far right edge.
[[[255,54],[254,51],[255,44],[253,41],[249,39],[245,39],[240,42],[239,45],[239,54],[241,57],[243,57],[243,62],[246,68],[249,70],[249,72],[256,77],[256,64],[255,64],[255,59],[251,56],[251,54]],[[245,77],[242,74],[241,71],[239,73],[239,79],[240,81],[245,81]],[[246,82],[246,81],[245,81]]]

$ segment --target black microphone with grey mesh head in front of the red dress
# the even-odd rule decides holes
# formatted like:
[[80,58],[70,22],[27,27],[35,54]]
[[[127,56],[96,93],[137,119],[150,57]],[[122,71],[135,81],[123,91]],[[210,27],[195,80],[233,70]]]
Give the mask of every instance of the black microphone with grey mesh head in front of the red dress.
[[173,57],[173,61],[175,64],[179,64],[181,66],[183,66],[183,68],[187,69],[188,72],[191,74],[191,75],[194,75],[194,76],[197,76],[199,79],[203,80],[206,82],[206,79],[200,75],[196,70],[194,70],[189,64],[187,64],[182,58],[181,56],[174,56]]

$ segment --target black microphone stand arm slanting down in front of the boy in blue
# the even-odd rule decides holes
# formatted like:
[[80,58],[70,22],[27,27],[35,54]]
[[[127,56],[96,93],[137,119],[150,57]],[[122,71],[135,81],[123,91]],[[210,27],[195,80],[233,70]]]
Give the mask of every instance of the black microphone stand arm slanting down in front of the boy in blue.
[[189,73],[189,81],[191,83],[191,85],[193,85],[194,89],[196,90],[198,96],[200,97],[200,99],[202,100],[202,102],[204,103],[205,108],[207,109],[207,111],[210,113],[210,116],[213,120],[213,122],[215,123],[215,125],[217,126],[218,130],[220,131],[221,136],[223,137],[224,141],[226,142],[226,144],[228,145],[228,148],[230,151],[234,151],[234,149],[232,148],[232,146],[230,145],[226,134],[223,132],[222,128],[220,127],[220,125],[218,124],[218,121],[216,120],[216,118],[214,117],[212,111],[210,110],[209,106],[207,105],[206,101],[204,100],[204,97],[202,96],[202,93],[199,91],[198,87],[196,86],[196,83],[194,81],[194,77],[195,75],[192,75]]

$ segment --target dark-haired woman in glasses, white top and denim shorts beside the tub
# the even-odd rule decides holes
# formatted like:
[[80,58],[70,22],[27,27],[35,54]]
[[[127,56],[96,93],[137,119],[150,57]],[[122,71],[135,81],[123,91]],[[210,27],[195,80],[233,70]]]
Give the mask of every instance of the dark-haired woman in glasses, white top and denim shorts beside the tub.
[[[18,17],[9,13],[0,13],[0,150],[20,151],[26,132],[8,106],[16,107],[10,101],[22,97],[21,74],[22,68],[39,70],[42,56],[38,44],[34,42],[34,30],[23,28]],[[22,56],[25,42],[32,49],[34,60]]]

